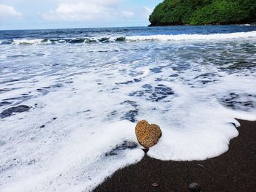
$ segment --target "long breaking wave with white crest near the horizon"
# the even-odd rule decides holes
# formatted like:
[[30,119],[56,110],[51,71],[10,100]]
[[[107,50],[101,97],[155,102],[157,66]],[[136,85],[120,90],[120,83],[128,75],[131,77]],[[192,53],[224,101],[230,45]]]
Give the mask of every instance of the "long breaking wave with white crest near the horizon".
[[2,40],[0,45],[49,45],[49,44],[78,44],[104,42],[140,42],[140,41],[185,41],[185,40],[213,40],[213,39],[241,39],[255,38],[256,31],[230,34],[176,34],[176,35],[148,35],[123,37],[75,37],[63,39],[11,39]]

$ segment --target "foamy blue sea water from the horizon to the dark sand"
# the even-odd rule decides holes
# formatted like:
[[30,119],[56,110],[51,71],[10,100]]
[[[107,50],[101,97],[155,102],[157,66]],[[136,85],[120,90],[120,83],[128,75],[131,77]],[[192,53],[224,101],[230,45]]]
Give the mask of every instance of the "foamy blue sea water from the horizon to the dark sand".
[[93,190],[143,158],[142,119],[152,158],[225,153],[256,120],[255,72],[256,26],[0,31],[0,191]]

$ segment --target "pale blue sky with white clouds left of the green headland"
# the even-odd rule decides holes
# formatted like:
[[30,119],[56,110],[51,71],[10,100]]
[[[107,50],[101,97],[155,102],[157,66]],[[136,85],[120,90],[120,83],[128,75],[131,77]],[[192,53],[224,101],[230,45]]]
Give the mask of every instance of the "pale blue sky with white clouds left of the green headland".
[[162,0],[0,0],[0,30],[147,26]]

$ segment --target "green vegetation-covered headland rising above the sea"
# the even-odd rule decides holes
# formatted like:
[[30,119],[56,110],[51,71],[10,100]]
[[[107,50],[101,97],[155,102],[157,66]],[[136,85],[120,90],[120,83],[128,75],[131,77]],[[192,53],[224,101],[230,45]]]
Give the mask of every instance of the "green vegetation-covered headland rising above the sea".
[[149,17],[151,26],[256,22],[256,0],[165,0]]

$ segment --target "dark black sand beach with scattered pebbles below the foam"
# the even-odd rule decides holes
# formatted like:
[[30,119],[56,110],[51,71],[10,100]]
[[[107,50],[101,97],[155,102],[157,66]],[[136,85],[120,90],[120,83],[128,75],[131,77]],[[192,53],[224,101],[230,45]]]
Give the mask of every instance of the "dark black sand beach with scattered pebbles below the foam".
[[[256,191],[256,121],[239,120],[239,136],[230,149],[205,161],[159,161],[147,155],[138,164],[118,170],[94,191]],[[196,142],[196,141],[195,141]],[[158,187],[152,187],[157,183]]]

